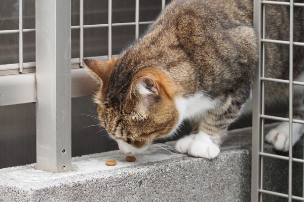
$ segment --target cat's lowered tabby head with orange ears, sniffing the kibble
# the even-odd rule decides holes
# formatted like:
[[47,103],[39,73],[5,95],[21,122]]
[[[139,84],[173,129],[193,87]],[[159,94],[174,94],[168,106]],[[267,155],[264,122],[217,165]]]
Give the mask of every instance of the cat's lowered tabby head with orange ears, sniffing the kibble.
[[100,125],[124,153],[139,153],[154,139],[174,132],[179,114],[174,102],[176,86],[168,75],[145,68],[121,76],[125,64],[113,58],[84,62],[101,84],[94,98]]

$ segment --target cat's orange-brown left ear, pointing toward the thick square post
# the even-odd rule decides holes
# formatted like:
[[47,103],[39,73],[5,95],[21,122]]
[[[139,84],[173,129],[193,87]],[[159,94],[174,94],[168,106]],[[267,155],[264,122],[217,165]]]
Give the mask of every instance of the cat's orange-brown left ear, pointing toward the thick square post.
[[84,59],[86,67],[101,81],[102,85],[106,85],[115,66],[117,58],[108,61]]

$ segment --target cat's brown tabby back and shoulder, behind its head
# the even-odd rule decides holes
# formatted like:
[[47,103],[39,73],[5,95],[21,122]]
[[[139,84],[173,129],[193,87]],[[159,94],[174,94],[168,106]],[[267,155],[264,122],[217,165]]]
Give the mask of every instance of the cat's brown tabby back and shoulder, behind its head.
[[[257,58],[252,22],[252,0],[173,0],[125,52],[125,60],[137,64],[127,71],[158,68],[184,94],[222,94],[235,80],[249,86]],[[214,88],[219,84],[225,85]]]

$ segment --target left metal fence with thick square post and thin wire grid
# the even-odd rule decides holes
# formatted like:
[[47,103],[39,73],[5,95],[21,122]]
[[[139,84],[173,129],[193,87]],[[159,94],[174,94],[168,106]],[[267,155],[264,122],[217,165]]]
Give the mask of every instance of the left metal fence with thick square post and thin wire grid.
[[[80,0],[80,24],[71,26],[71,1],[36,1],[35,28],[23,29],[22,5],[19,0],[19,29],[0,30],[0,34],[19,33],[19,63],[0,65],[0,71],[17,70],[19,74],[0,76],[0,106],[36,102],[37,168],[64,172],[71,166],[71,100],[92,94],[96,87],[83,69],[84,29],[108,28],[108,54],[90,57],[107,60],[112,55],[112,27],[135,26],[139,37],[139,0],[135,0],[134,22],[112,23],[112,0],[108,0],[108,23],[84,24],[84,1]],[[165,0],[161,1],[162,9]],[[79,58],[71,59],[71,30],[80,31]],[[23,33],[35,32],[36,61],[23,62]],[[75,67],[76,66],[76,67]],[[35,73],[24,69],[35,67]],[[71,69],[72,67],[72,69]],[[86,80],[86,85],[83,81]]]

